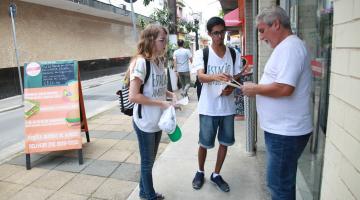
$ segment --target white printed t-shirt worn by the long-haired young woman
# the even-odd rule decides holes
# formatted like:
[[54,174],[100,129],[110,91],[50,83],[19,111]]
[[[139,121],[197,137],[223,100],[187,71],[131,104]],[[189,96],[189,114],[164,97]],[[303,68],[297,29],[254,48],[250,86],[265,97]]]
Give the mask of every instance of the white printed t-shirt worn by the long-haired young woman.
[[[136,64],[131,70],[130,80],[135,77],[140,78],[143,82],[146,75],[146,63],[144,58],[137,58]],[[167,91],[167,77],[164,69],[164,64],[156,65],[150,61],[150,76],[144,85],[143,95],[150,99],[166,100]],[[142,118],[138,116],[138,104],[135,104],[133,110],[133,119],[136,126],[144,132],[160,131],[158,122],[160,120],[163,110],[159,106],[141,105]]]

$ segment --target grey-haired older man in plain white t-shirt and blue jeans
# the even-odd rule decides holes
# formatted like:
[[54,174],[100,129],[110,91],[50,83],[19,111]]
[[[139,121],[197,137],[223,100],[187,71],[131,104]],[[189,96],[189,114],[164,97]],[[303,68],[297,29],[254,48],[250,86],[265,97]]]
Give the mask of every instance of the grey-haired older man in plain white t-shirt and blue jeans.
[[267,182],[273,200],[295,199],[297,162],[312,133],[311,69],[307,48],[291,31],[280,7],[264,9],[256,18],[260,40],[274,48],[259,84],[242,91],[256,96],[265,132]]

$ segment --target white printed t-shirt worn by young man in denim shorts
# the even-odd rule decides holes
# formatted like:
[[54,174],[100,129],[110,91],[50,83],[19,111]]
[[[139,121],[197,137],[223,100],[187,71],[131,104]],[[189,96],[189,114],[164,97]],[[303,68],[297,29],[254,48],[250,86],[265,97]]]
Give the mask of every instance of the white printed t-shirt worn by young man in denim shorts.
[[[221,74],[227,73],[230,75],[236,75],[240,73],[241,62],[240,54],[236,52],[235,66],[231,58],[229,48],[226,48],[226,52],[223,58],[220,58],[214,50],[209,46],[209,58],[207,63],[206,74]],[[204,69],[203,50],[198,50],[194,56],[194,67]],[[201,95],[198,103],[199,114],[208,116],[227,116],[235,114],[235,102],[234,93],[229,96],[222,96],[221,91],[226,87],[225,83],[218,81],[212,81],[209,83],[203,83],[201,89]]]

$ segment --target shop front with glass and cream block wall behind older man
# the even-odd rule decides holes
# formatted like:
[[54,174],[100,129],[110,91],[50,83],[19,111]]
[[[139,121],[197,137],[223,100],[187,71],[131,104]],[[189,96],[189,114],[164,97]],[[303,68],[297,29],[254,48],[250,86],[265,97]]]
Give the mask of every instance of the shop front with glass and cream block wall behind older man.
[[[360,1],[239,0],[247,23],[253,22],[254,2],[258,12],[283,7],[311,54],[314,132],[299,160],[297,199],[360,199]],[[243,34],[253,34],[251,24],[243,26]],[[253,41],[246,37],[247,54]],[[272,49],[255,43],[260,78]],[[263,150],[260,128],[257,137],[257,150]]]

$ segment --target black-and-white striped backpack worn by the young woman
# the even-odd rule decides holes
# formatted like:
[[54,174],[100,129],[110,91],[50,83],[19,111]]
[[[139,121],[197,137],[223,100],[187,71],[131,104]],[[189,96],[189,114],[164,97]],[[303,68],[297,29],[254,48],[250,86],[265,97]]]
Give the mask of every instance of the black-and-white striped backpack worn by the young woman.
[[[145,61],[146,61],[146,74],[145,74],[144,83],[141,84],[141,87],[140,87],[141,94],[144,92],[144,85],[150,77],[150,70],[151,70],[150,69],[150,61],[149,60],[145,60]],[[132,103],[129,101],[129,88],[130,87],[128,85],[124,84],[123,87],[116,92],[116,94],[119,95],[120,111],[122,113],[124,113],[125,115],[132,116],[135,103]],[[138,116],[140,119],[142,118],[141,104],[139,104],[139,106],[138,106]]]

